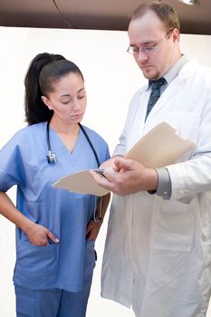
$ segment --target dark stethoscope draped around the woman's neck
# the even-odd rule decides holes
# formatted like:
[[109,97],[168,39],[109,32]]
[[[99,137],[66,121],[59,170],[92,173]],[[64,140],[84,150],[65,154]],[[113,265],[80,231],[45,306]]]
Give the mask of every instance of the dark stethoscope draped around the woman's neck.
[[[46,155],[46,159],[47,159],[48,164],[55,164],[56,163],[56,156],[55,156],[55,153],[53,153],[53,151],[52,151],[51,142],[50,142],[50,132],[49,132],[50,121],[51,120],[49,120],[47,122],[47,125],[46,125],[46,141],[47,141],[47,147],[48,147],[48,155]],[[91,139],[88,136],[86,130],[82,127],[82,124],[78,123],[78,125],[79,125],[80,129],[82,130],[82,133],[84,134],[85,138],[87,139],[87,141],[91,147],[91,150],[94,154],[94,157],[96,159],[96,162],[97,162],[97,165],[99,168],[101,163],[100,163],[98,154],[96,152],[96,149],[94,149],[94,146],[91,143]],[[95,196],[95,207],[94,207],[94,213],[93,213],[93,220],[95,222],[99,222],[102,219],[101,218],[101,204],[102,204],[102,197]],[[98,214],[98,216],[97,216],[97,214]]]

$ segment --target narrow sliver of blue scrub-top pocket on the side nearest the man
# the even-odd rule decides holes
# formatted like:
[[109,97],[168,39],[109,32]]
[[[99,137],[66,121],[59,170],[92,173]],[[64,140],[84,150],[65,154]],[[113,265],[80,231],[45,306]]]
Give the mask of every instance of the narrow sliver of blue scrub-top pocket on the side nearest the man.
[[91,280],[97,254],[94,250],[95,240],[86,240],[85,255],[84,255],[84,278],[83,283],[88,283]]

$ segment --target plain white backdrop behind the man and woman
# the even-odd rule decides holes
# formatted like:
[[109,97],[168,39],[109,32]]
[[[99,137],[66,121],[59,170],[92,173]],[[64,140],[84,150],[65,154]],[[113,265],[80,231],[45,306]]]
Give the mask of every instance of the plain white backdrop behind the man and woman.
[[[37,53],[61,53],[78,64],[85,78],[88,106],[83,124],[98,131],[110,152],[123,128],[129,100],[146,81],[126,50],[126,32],[0,27],[0,148],[24,127],[24,74]],[[181,46],[189,57],[211,66],[211,36],[182,35]],[[1,159],[1,158],[0,158]],[[15,201],[15,188],[9,191]],[[101,257],[108,215],[96,243],[95,268],[87,317],[134,316],[118,303],[101,299]],[[14,317],[14,225],[0,216],[0,316]],[[211,317],[210,312],[207,317]]]

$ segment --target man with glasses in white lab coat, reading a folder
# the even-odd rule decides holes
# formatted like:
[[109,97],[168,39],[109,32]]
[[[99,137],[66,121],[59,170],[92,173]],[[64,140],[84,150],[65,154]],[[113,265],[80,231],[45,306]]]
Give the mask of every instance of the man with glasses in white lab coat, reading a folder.
[[[131,15],[129,53],[149,83],[129,105],[106,178],[92,173],[117,194],[101,294],[132,306],[137,317],[204,317],[211,288],[211,71],[181,53],[177,13],[161,3]],[[160,97],[148,110],[161,77]],[[162,121],[196,148],[158,169],[120,158]]]

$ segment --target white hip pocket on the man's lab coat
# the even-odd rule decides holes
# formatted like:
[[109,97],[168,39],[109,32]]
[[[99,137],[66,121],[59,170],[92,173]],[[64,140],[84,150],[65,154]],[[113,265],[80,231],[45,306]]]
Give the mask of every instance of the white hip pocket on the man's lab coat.
[[173,202],[160,199],[158,205],[155,210],[151,247],[189,252],[193,243],[197,197]]

